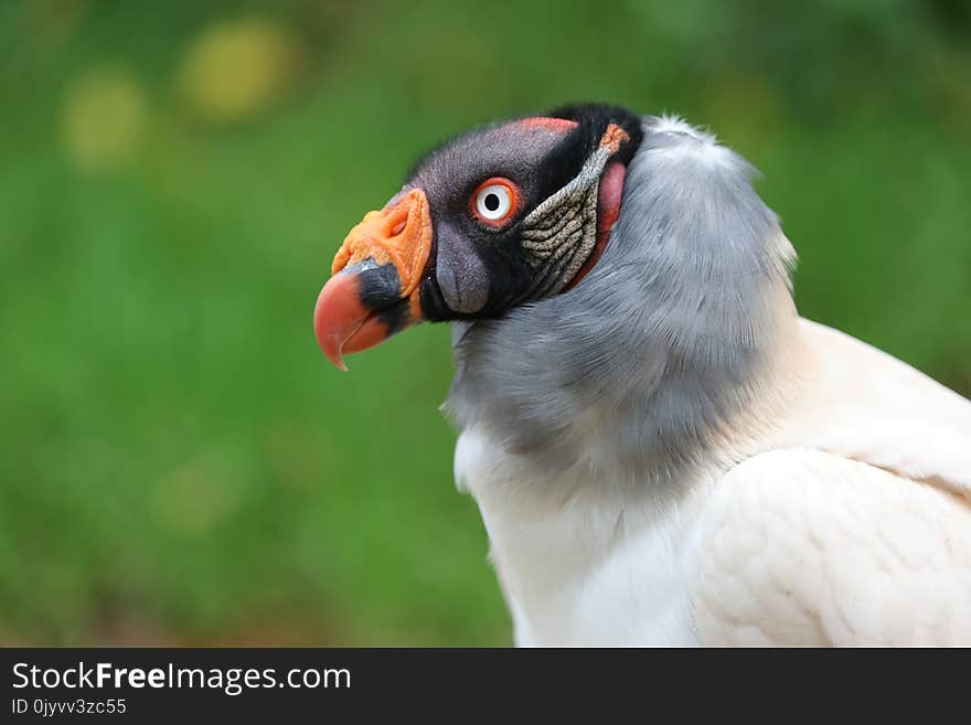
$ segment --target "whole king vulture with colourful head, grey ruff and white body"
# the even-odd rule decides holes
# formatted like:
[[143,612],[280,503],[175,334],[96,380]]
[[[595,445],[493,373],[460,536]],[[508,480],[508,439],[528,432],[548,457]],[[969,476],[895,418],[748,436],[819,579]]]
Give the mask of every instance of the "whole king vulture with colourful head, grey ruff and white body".
[[802,319],[753,169],[679,118],[478,128],[354,226],[323,353],[451,322],[521,646],[971,644],[971,403]]

